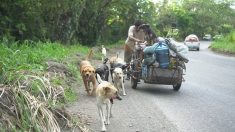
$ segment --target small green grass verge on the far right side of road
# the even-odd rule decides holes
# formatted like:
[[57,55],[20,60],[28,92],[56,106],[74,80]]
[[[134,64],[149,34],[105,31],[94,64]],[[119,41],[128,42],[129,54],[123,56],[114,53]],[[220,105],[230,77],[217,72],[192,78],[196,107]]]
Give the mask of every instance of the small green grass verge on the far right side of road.
[[226,54],[235,54],[235,31],[212,43],[211,49]]

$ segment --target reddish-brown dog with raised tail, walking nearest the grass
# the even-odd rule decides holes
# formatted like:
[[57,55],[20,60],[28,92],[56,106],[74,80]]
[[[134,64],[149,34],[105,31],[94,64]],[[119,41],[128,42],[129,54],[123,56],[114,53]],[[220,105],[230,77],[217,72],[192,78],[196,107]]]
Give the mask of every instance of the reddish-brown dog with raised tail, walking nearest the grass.
[[[91,63],[88,61],[90,56],[92,54],[92,50],[90,50],[87,58],[80,63],[80,74],[83,79],[83,83],[85,86],[85,90],[88,95],[95,94],[95,89],[97,87],[96,84],[96,75],[95,75],[95,68],[91,65]],[[92,83],[93,88],[91,89],[90,83]]]

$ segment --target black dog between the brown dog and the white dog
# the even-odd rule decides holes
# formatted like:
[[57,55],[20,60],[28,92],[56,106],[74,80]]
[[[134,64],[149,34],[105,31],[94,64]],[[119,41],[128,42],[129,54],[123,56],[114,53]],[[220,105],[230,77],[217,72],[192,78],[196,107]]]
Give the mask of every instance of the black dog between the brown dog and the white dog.
[[106,64],[108,60],[109,60],[108,58],[105,58],[103,64],[99,65],[95,70],[95,73],[99,74],[101,79],[105,81],[109,80],[109,67]]

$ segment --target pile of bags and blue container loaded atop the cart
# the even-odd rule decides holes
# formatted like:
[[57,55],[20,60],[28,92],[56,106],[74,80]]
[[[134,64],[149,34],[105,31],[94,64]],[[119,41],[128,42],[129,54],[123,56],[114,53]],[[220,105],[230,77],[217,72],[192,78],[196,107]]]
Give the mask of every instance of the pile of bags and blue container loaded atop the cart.
[[180,60],[187,63],[189,60],[186,56],[188,47],[182,43],[176,42],[173,39],[159,39],[152,46],[147,46],[144,49],[144,60],[142,65],[142,75],[147,75],[147,66],[154,65],[159,68],[171,68],[175,63],[174,57],[179,57]]

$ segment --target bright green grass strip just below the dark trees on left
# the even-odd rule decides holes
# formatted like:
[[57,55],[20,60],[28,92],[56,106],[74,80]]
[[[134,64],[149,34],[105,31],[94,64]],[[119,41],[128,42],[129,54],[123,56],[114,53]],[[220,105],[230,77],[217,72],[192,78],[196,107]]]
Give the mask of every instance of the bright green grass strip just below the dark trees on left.
[[[43,71],[46,68],[47,60],[62,62],[71,54],[80,52],[85,54],[87,47],[81,45],[63,46],[59,43],[13,43],[6,45],[0,43],[0,74],[5,72],[9,75],[8,81],[14,79],[16,71]],[[1,79],[2,80],[2,79]],[[3,81],[3,80],[2,80]]]

